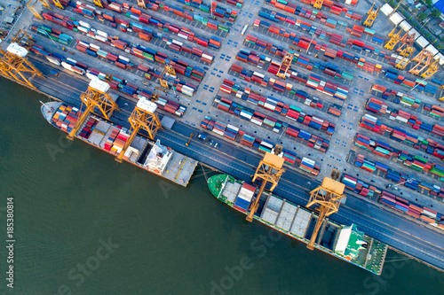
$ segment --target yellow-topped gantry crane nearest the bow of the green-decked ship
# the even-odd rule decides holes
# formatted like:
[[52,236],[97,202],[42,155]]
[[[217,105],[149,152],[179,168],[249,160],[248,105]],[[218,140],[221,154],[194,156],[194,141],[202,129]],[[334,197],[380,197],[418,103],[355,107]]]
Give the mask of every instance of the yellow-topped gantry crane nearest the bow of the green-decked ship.
[[250,204],[250,213],[247,216],[247,221],[253,221],[253,215],[258,210],[259,199],[262,196],[262,192],[266,189],[266,183],[272,183],[272,186],[269,190],[270,192],[272,192],[278,184],[281,175],[285,172],[285,169],[282,168],[284,161],[285,159],[271,152],[266,152],[264,159],[261,159],[261,161],[259,162],[259,166],[256,169],[256,173],[253,177],[253,182],[255,182],[259,178],[262,180],[262,184],[260,186],[256,199]]

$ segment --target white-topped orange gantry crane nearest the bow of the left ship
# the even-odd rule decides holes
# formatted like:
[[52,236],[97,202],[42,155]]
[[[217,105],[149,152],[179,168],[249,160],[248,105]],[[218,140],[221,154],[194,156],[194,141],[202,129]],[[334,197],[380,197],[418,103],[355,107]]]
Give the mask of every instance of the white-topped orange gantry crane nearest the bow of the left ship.
[[115,110],[118,110],[114,99],[108,95],[108,90],[109,85],[107,82],[103,82],[99,79],[91,80],[88,89],[86,89],[81,95],[82,105],[80,107],[80,112],[82,112],[83,105],[86,106],[86,109],[75,122],[75,127],[67,136],[68,139],[74,139],[77,131],[82,128],[84,120],[86,120],[90,113],[94,112],[96,107],[99,109],[100,114],[107,120],[109,120]]

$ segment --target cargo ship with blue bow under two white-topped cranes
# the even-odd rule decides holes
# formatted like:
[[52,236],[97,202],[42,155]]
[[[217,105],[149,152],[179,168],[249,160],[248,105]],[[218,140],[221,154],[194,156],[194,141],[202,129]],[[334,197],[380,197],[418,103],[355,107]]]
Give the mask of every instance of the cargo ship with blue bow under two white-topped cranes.
[[[75,127],[80,110],[61,102],[42,103],[44,119],[52,126],[69,133]],[[75,135],[86,144],[90,144],[114,156],[119,155],[130,136],[130,130],[90,114]],[[186,187],[197,166],[197,160],[173,151],[153,142],[145,136],[137,135],[125,151],[123,159],[155,175]]]

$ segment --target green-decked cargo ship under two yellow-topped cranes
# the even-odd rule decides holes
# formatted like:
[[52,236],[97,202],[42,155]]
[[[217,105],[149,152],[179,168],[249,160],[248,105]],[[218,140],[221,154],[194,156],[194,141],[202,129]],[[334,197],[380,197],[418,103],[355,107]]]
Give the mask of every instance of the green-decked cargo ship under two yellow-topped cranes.
[[[248,214],[257,187],[234,179],[231,175],[213,175],[208,187],[214,197]],[[318,215],[286,199],[264,192],[254,219],[305,244],[310,242]],[[323,222],[314,247],[369,272],[381,275],[388,246],[366,236],[356,225],[345,226],[333,221]]]

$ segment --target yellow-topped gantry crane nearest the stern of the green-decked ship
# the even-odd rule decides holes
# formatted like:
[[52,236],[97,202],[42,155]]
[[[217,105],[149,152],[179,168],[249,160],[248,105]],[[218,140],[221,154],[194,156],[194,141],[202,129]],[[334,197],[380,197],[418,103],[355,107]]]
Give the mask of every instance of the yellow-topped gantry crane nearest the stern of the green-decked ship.
[[310,192],[310,200],[308,201],[307,207],[317,205],[317,210],[319,210],[318,221],[316,221],[316,225],[314,226],[310,243],[307,245],[307,248],[310,250],[314,248],[314,243],[316,242],[325,218],[332,213],[337,213],[337,210],[339,210],[341,198],[344,197],[343,193],[345,190],[345,184],[337,181],[339,175],[339,171],[333,169],[331,178],[324,177],[321,186]]

